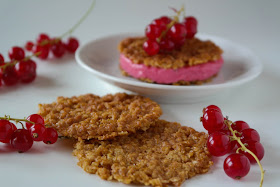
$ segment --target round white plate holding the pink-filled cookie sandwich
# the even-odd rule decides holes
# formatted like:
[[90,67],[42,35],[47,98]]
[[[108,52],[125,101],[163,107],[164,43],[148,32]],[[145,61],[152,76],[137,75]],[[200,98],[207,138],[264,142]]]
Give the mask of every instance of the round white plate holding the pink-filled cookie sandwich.
[[122,33],[91,41],[78,49],[76,60],[84,69],[106,82],[162,103],[190,103],[210,99],[253,80],[262,71],[260,60],[248,48],[220,37],[198,35],[202,40],[212,40],[224,50],[224,66],[212,82],[194,86],[141,82],[122,76],[117,48],[124,38],[140,35],[141,33]]

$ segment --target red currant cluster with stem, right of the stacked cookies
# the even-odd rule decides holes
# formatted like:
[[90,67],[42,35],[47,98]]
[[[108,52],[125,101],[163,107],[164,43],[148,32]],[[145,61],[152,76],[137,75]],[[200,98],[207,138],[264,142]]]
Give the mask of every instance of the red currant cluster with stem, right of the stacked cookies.
[[[236,152],[231,153],[224,161],[224,171],[228,176],[240,179],[249,173],[250,162],[260,165],[259,161],[264,156],[260,135],[246,122],[231,122],[215,105],[204,108],[201,121],[209,133],[207,148],[213,156]],[[261,165],[260,168],[262,170]]]

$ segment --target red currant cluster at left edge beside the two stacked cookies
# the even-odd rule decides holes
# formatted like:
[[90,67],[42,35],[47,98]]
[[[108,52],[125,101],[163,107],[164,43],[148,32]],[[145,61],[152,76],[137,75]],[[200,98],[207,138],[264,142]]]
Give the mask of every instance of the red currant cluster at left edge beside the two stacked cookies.
[[[16,122],[25,121],[26,128],[17,129],[10,120]],[[18,152],[28,151],[34,141],[54,144],[57,138],[56,130],[47,128],[44,124],[44,119],[38,114],[32,114],[27,119],[15,119],[9,116],[0,117],[0,142],[9,143]]]

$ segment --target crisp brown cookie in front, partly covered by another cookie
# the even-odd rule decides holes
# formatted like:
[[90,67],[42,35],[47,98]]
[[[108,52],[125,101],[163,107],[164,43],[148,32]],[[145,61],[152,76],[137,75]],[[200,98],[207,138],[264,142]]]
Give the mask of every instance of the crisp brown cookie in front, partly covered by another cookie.
[[147,131],[114,140],[82,140],[73,154],[86,172],[105,180],[150,186],[180,186],[213,164],[207,135],[175,122],[158,120]]

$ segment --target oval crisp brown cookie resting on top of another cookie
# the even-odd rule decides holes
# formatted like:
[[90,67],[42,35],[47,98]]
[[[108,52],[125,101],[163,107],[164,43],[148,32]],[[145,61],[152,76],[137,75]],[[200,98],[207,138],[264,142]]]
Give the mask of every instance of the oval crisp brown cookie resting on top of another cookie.
[[38,114],[63,136],[105,140],[147,130],[162,111],[149,98],[117,93],[58,97],[51,104],[39,104]]

